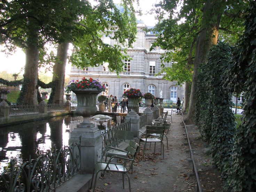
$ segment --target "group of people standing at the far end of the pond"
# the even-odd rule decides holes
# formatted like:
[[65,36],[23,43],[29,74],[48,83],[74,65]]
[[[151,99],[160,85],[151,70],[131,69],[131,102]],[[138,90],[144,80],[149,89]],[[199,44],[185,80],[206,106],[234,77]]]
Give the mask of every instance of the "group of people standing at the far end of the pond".
[[128,107],[128,98],[123,98],[121,102],[118,102],[117,96],[113,96],[110,95],[106,102],[104,102],[105,106],[109,107],[108,103],[111,102],[111,108],[112,108],[112,112],[117,112],[117,107],[121,106],[121,112],[125,112],[126,111],[126,107],[127,107],[127,111],[130,112],[131,109]]

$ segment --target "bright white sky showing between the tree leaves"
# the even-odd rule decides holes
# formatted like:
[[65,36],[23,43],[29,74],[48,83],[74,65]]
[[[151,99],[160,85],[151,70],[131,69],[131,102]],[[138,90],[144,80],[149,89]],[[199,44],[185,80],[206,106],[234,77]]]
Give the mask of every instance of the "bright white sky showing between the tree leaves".
[[[120,0],[113,0],[114,3],[119,3]],[[150,11],[153,8],[153,4],[159,0],[139,0],[142,14],[141,16],[137,15],[138,20],[144,21],[147,26],[154,26],[157,21],[154,18],[154,15],[150,15],[147,11]],[[134,5],[137,8],[137,5]],[[1,49],[1,47],[0,47]],[[0,71],[7,71],[8,73],[19,73],[22,67],[25,66],[25,53],[21,49],[17,49],[13,55],[6,56],[4,53],[0,52]],[[66,65],[66,74],[70,73],[71,64]],[[45,71],[40,69],[40,71]],[[23,71],[21,72],[23,74]],[[48,74],[51,74],[48,72]]]

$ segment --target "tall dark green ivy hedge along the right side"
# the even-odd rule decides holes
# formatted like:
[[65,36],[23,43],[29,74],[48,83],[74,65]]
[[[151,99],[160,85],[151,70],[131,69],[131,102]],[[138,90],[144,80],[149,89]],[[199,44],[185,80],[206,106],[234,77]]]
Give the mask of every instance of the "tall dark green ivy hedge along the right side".
[[[213,46],[199,69],[195,122],[209,142],[214,164],[231,192],[256,190],[256,1],[237,47]],[[231,95],[244,93],[242,123],[235,127]]]

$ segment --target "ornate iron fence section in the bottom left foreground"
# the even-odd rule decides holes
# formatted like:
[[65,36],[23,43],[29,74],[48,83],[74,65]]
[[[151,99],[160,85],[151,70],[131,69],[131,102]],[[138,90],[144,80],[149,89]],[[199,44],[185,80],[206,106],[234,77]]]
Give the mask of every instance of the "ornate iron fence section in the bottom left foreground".
[[8,168],[0,175],[0,191],[6,192],[49,192],[69,180],[80,171],[81,151],[79,144],[64,146],[63,149],[42,154],[30,159],[22,166],[11,160]]

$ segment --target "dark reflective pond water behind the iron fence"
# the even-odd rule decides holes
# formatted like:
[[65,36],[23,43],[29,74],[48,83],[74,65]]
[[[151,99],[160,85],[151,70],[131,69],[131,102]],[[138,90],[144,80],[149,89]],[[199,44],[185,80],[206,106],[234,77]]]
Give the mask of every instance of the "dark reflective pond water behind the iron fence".
[[[22,164],[29,160],[30,155],[35,159],[42,151],[47,152],[53,148],[54,144],[57,149],[68,145],[70,132],[81,121],[82,117],[67,115],[0,127],[0,173],[10,159]],[[124,121],[125,117],[114,115],[111,120],[95,124],[104,130]]]

